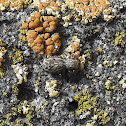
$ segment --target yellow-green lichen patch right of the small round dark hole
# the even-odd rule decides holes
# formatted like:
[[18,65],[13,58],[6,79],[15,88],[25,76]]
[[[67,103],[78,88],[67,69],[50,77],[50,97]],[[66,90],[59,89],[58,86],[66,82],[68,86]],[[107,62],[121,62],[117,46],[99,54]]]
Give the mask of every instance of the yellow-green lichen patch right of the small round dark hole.
[[93,117],[91,118],[92,123],[97,120],[101,125],[104,125],[110,121],[108,113],[97,107],[99,104],[97,102],[97,97],[89,93],[88,89],[80,91],[74,97],[74,100],[78,101],[78,109],[76,110],[77,115],[91,112],[93,114]]

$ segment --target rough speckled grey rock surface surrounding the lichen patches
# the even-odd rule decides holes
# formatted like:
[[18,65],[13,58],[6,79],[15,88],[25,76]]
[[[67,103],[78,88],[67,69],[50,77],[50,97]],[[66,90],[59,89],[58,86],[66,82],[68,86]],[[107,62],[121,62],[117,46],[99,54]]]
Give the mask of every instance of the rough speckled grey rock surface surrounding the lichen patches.
[[[61,36],[62,47],[57,55],[64,53],[72,36],[77,35],[81,40],[81,54],[89,53],[90,56],[86,57],[85,69],[82,71],[69,72],[61,69],[53,74],[43,68],[46,56],[39,57],[30,49],[28,42],[19,40],[21,23],[37,9],[27,7],[14,12],[0,11],[0,39],[7,49],[3,63],[5,75],[0,79],[0,125],[11,126],[11,122],[14,122],[17,126],[86,126],[93,114],[81,119],[76,114],[78,102],[74,100],[74,96],[88,88],[92,95],[97,96],[97,107],[106,111],[110,117],[105,126],[125,126],[126,44],[124,47],[115,45],[115,35],[117,32],[126,33],[126,0],[110,2],[118,10],[111,23],[105,22],[103,15],[100,15],[96,21],[87,25],[73,19],[72,25],[63,27],[63,20],[59,19],[57,32]],[[124,41],[126,43],[126,38]],[[11,67],[13,61],[9,58],[9,53],[14,48],[22,51],[22,63],[28,67],[27,82],[22,84],[17,84],[17,77]],[[59,96],[50,98],[48,92],[45,92],[45,84],[46,81],[54,79],[58,82],[56,90]],[[110,83],[106,83],[107,80]],[[29,113],[23,115],[17,112],[11,119],[6,117],[8,113],[13,113],[12,107],[20,107],[19,104],[23,104],[24,100],[32,106],[33,111],[29,110],[33,115],[29,121],[32,124],[26,121]],[[17,123],[16,119],[21,119],[21,123]],[[97,120],[94,126],[99,125],[102,124]]]

